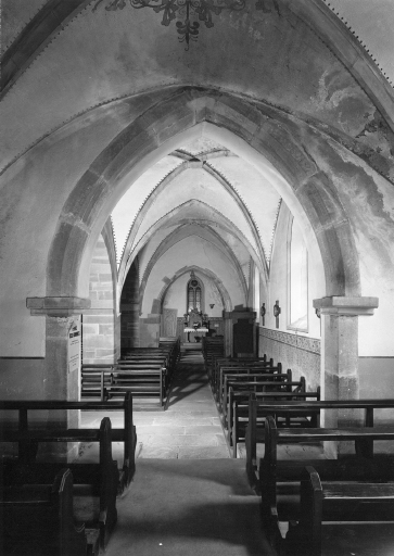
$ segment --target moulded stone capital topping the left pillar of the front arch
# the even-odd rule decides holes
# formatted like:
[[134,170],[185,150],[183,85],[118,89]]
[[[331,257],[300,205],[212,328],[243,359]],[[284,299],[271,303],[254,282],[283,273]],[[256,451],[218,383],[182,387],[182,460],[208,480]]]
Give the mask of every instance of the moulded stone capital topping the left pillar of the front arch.
[[67,317],[81,315],[90,308],[91,301],[87,298],[26,298],[26,307],[31,316]]

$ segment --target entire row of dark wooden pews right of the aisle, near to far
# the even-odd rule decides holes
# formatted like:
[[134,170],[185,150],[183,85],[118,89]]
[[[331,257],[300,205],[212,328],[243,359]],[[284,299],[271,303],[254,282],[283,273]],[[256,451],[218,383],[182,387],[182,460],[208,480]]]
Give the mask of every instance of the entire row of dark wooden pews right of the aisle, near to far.
[[[319,389],[307,392],[305,380],[292,381],[290,370],[281,372],[266,357],[236,362],[219,350],[207,352],[211,384],[233,454],[244,438],[247,475],[262,495],[264,527],[278,553],[281,521],[290,526],[289,554],[310,556],[321,555],[323,521],[394,521],[394,458],[373,451],[374,441],[394,440],[394,427],[373,427],[374,410],[393,408],[394,400],[320,401]],[[322,410],[357,409],[365,412],[361,427],[319,427]],[[314,451],[300,459],[277,457],[280,443],[349,441],[354,453],[336,459]]]

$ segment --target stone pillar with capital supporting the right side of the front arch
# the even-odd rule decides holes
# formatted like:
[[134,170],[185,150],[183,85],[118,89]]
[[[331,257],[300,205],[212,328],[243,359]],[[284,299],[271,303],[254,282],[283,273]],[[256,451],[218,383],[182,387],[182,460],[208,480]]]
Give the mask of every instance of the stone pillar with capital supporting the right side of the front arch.
[[[378,298],[331,296],[314,300],[321,323],[321,399],[357,400],[358,378],[358,317],[373,315]],[[336,428],[360,424],[357,410],[326,412],[321,426]],[[336,455],[333,443],[325,446],[329,456]],[[341,442],[340,452],[347,446]]]

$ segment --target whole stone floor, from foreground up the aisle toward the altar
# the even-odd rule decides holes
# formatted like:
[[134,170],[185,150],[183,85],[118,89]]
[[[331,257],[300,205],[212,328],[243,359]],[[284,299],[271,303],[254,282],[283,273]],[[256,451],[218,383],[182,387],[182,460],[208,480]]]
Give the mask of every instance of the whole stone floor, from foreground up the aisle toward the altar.
[[[134,412],[137,471],[128,493],[117,502],[118,523],[107,556],[274,555],[260,529],[259,500],[247,486],[244,464],[230,459],[199,348],[183,346],[164,412]],[[85,413],[81,426],[98,427],[104,415],[114,428],[123,427],[123,414],[115,412]],[[244,457],[244,446],[239,447],[239,457]],[[96,460],[97,451],[97,443],[81,446],[81,458]],[[281,445],[278,452],[279,458],[312,455],[325,457],[316,445]],[[113,456],[122,465],[123,444],[113,443]],[[285,531],[283,523],[283,536]],[[391,523],[327,525],[322,534],[322,556],[394,555]],[[285,541],[281,554],[304,556]]]

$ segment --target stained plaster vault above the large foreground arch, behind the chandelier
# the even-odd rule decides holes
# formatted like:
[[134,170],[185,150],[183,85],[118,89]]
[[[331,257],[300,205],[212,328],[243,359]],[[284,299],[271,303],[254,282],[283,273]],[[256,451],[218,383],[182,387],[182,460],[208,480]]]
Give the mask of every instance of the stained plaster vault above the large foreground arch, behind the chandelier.
[[[346,0],[338,1],[346,4]],[[353,2],[354,13],[356,4],[366,5],[367,1]],[[10,40],[14,36],[17,41],[20,29],[27,30],[29,26],[23,2],[17,2],[17,9],[11,2],[2,2],[2,12],[9,14],[5,21],[14,29],[9,34]],[[38,2],[31,3],[35,8],[29,16],[39,10]],[[165,94],[186,84],[204,84],[260,99],[303,119],[316,119],[366,140],[366,134],[360,134],[366,125],[373,124],[376,110],[365,93],[367,88],[352,75],[360,56],[353,49],[357,64],[348,60],[345,68],[330,45],[319,37],[319,29],[314,28],[317,20],[309,24],[308,11],[321,10],[320,0],[264,0],[264,10],[247,3],[241,13],[224,11],[214,16],[214,29],[201,26],[199,41],[188,52],[178,43],[175,22],[161,25],[162,14],[134,10],[129,2],[117,2],[124,10],[105,10],[109,3],[110,0],[42,2],[37,17],[42,12],[45,17],[48,12],[47,16],[53,20],[55,14],[59,25],[40,27],[45,48],[41,45],[28,52],[28,60],[24,59],[23,47],[28,47],[25,43],[21,43],[17,56],[9,60],[11,74],[12,64],[21,73],[0,103],[3,166],[93,108],[147,91],[154,102],[154,91]],[[376,5],[377,1],[371,3]],[[60,12],[58,4],[62,9],[71,7],[69,13]],[[97,4],[100,5],[94,10]],[[389,4],[384,13],[390,20]],[[330,36],[330,29],[326,30]],[[35,31],[34,26],[28,30]],[[224,63],[224,53],[228,63]],[[3,76],[9,73],[5,70]],[[333,94],[334,90],[338,93]],[[387,106],[385,114],[390,114]]]

